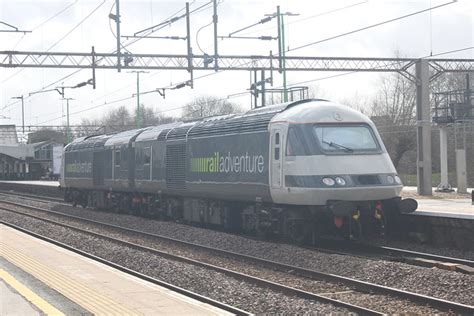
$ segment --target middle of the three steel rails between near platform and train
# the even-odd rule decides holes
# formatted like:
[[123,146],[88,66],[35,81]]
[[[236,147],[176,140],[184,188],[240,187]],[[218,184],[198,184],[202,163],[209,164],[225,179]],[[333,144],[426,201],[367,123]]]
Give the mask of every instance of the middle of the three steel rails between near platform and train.
[[[0,203],[4,203],[4,201],[2,201]],[[24,207],[24,206],[21,206],[21,207]],[[33,207],[25,207],[25,208],[34,209]],[[357,305],[350,304],[350,303],[345,303],[345,302],[337,300],[337,299],[328,298],[326,296],[314,294],[314,293],[311,293],[311,292],[308,292],[308,291],[300,290],[300,289],[293,288],[293,287],[290,287],[290,286],[286,286],[286,285],[283,285],[283,284],[280,284],[280,283],[268,281],[268,280],[265,280],[265,279],[262,279],[262,278],[258,278],[258,277],[248,275],[248,274],[244,274],[244,273],[236,272],[236,271],[229,270],[229,269],[226,269],[226,268],[222,268],[222,267],[219,267],[219,266],[216,266],[216,265],[204,263],[204,262],[197,261],[197,260],[194,260],[194,259],[189,259],[189,258],[186,258],[186,257],[183,257],[183,256],[178,256],[178,255],[174,255],[174,254],[171,254],[171,253],[168,253],[168,252],[163,252],[163,251],[153,249],[153,248],[150,248],[150,247],[146,247],[146,246],[142,246],[142,245],[139,245],[139,244],[136,244],[136,243],[132,243],[132,242],[128,242],[128,241],[125,241],[125,240],[113,238],[113,237],[110,237],[110,236],[105,236],[103,234],[83,230],[83,229],[75,227],[75,226],[71,226],[71,225],[68,225],[68,224],[59,223],[59,222],[56,222],[56,221],[53,221],[53,220],[41,218],[41,217],[36,216],[36,215],[26,214],[26,213],[23,213],[21,211],[11,210],[11,209],[7,209],[7,208],[1,207],[1,206],[0,206],[0,209],[8,211],[8,212],[12,212],[12,213],[20,214],[20,215],[25,215],[25,216],[28,216],[28,217],[31,217],[31,218],[34,218],[34,219],[37,219],[37,220],[41,220],[41,221],[44,221],[44,222],[47,222],[47,223],[51,223],[53,225],[58,225],[58,226],[61,226],[61,227],[64,227],[64,228],[72,229],[72,230],[78,231],[78,232],[83,233],[83,234],[94,236],[96,238],[101,238],[101,239],[104,239],[104,240],[108,240],[110,242],[119,243],[119,244],[122,244],[126,247],[129,247],[129,248],[132,248],[132,249],[135,249],[135,250],[138,250],[138,251],[149,252],[151,254],[158,255],[160,257],[163,257],[163,258],[166,258],[166,259],[169,259],[169,260],[180,261],[180,262],[184,262],[184,263],[187,263],[187,264],[199,266],[199,267],[202,267],[202,268],[214,270],[214,271],[226,274],[228,276],[231,276],[233,278],[236,278],[236,279],[239,279],[239,280],[242,280],[242,281],[245,281],[245,282],[251,282],[251,283],[254,283],[254,284],[257,284],[257,285],[260,285],[260,286],[264,286],[264,287],[276,290],[278,292],[285,293],[287,295],[295,295],[295,296],[298,296],[298,297],[304,298],[304,299],[314,300],[314,301],[323,302],[323,303],[329,303],[329,304],[332,304],[334,306],[347,308],[348,310],[351,310],[353,312],[362,313],[364,315],[385,315],[383,313],[380,313],[380,312],[377,312],[377,311],[374,311],[374,310],[371,310],[371,309],[368,309],[368,308],[365,308],[365,307],[357,306]],[[4,222],[5,222],[4,220],[0,220],[0,223],[4,223]]]

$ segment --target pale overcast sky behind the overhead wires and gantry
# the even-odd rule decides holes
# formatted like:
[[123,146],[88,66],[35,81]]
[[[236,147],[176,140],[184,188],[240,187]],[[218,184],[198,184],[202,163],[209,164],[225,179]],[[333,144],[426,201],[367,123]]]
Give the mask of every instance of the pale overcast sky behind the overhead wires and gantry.
[[[32,30],[32,33],[0,33],[0,50],[49,52],[112,52],[116,47],[115,24],[108,18],[115,0],[0,0],[0,21]],[[191,10],[208,1],[190,1]],[[221,0],[218,6],[219,35],[253,24],[276,11],[298,16],[285,17],[286,45],[295,48],[306,43],[352,31],[371,24],[396,18],[450,0]],[[131,35],[156,25],[184,8],[179,0],[121,0],[121,33]],[[340,10],[338,10],[340,9]],[[62,12],[61,12],[62,11]],[[114,9],[115,11],[115,9]],[[88,16],[88,17],[87,17]],[[86,18],[87,17],[87,18]],[[459,0],[452,4],[387,23],[356,34],[291,51],[291,56],[328,57],[423,57],[474,46],[474,1]],[[84,20],[84,21],[83,21]],[[83,23],[80,23],[83,21]],[[212,25],[197,31],[212,21],[212,5],[191,16],[192,47],[195,54],[213,53]],[[8,29],[0,25],[0,30]],[[276,20],[239,33],[247,36],[276,36]],[[184,19],[165,27],[156,36],[185,36]],[[123,43],[127,40],[123,39]],[[127,47],[131,53],[185,54],[185,41],[143,39]],[[222,40],[222,55],[268,55],[277,51],[276,41]],[[474,58],[474,50],[465,50],[436,58]],[[21,104],[12,97],[25,96],[26,125],[58,125],[65,122],[65,101],[56,92],[36,94],[33,91],[71,74],[63,69],[0,68],[0,124],[21,125]],[[195,77],[211,72],[196,71]],[[289,72],[288,83],[315,80],[318,96],[338,102],[350,99],[369,100],[377,90],[381,74],[351,74],[335,78],[331,72]],[[282,84],[274,74],[274,87]],[[71,86],[91,78],[91,70],[82,70],[54,86]],[[180,83],[189,78],[186,71],[150,71],[141,75],[141,91]],[[226,71],[196,80],[194,89],[167,91],[166,99],[157,93],[141,96],[141,103],[157,112],[179,116],[180,107],[201,95],[226,97],[249,88],[249,72]],[[53,86],[53,87],[54,87]],[[97,88],[91,86],[66,90],[70,103],[71,124],[83,118],[99,118],[118,106],[130,110],[136,107],[136,74],[114,70],[97,71]],[[129,98],[121,102],[116,100]],[[232,98],[243,109],[250,109],[250,96]],[[94,108],[94,109],[90,109]],[[90,110],[88,110],[90,109]],[[175,110],[173,110],[175,109]],[[6,117],[6,118],[5,118]]]

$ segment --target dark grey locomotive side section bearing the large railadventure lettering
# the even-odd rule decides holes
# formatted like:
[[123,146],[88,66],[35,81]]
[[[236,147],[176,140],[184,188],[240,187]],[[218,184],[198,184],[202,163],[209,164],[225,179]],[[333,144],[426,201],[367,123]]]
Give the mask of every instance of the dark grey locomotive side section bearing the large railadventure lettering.
[[205,120],[187,135],[187,189],[201,198],[272,202],[268,123],[276,113]]

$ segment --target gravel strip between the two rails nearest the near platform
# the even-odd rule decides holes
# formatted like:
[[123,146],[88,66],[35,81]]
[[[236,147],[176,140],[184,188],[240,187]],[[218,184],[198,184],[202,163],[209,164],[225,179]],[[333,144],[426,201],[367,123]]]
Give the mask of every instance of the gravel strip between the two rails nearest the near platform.
[[149,252],[130,249],[114,242],[78,233],[75,230],[41,223],[39,220],[25,218],[6,211],[0,211],[0,214],[9,223],[31,229],[43,236],[59,240],[130,269],[255,314],[347,314],[349,312],[344,308],[334,307],[330,304],[285,295],[216,271],[164,259]]

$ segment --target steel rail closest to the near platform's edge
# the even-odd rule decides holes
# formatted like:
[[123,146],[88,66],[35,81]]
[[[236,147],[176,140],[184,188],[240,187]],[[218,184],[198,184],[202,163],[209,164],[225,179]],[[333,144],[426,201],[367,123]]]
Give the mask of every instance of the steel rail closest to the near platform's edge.
[[225,311],[228,311],[230,313],[233,313],[235,315],[253,315],[252,313],[249,313],[247,311],[244,311],[242,309],[239,309],[239,308],[236,308],[234,306],[230,306],[228,304],[225,304],[225,303],[222,303],[222,302],[219,302],[219,301],[216,301],[216,300],[213,300],[211,298],[208,298],[208,297],[205,297],[203,295],[200,295],[200,294],[197,294],[197,293],[194,293],[194,292],[191,292],[191,291],[188,291],[186,289],[183,289],[181,287],[178,287],[178,286],[175,286],[171,283],[167,283],[167,282],[164,282],[164,281],[161,281],[161,280],[158,280],[158,279],[155,279],[153,277],[150,277],[148,275],[145,275],[145,274],[142,274],[138,271],[134,271],[132,269],[129,269],[127,267],[124,267],[122,265],[119,265],[117,263],[114,263],[112,261],[109,261],[109,260],[106,260],[106,259],[103,259],[101,257],[98,257],[96,255],[93,255],[91,253],[88,253],[86,251],[83,251],[83,250],[80,250],[80,249],[77,249],[75,247],[72,247],[72,246],[69,246],[69,245],[66,245],[60,241],[57,241],[57,240],[54,240],[54,239],[51,239],[49,237],[46,237],[46,236],[43,236],[43,235],[40,235],[40,234],[37,234],[33,231],[30,231],[28,229],[25,229],[23,227],[20,227],[20,226],[17,226],[15,224],[11,224],[11,223],[7,223],[5,222],[4,220],[0,220],[0,223],[5,225],[5,226],[8,226],[8,227],[11,227],[13,229],[16,229],[18,231],[21,231],[23,233],[26,233],[30,236],[33,236],[35,238],[38,238],[38,239],[41,239],[41,240],[44,240],[48,243],[51,243],[53,245],[56,245],[56,246],[59,246],[59,247],[62,247],[64,249],[67,249],[67,250],[70,250],[74,253],[77,253],[81,256],[84,256],[86,258],[89,258],[89,259],[93,259],[97,262],[100,262],[102,264],[105,264],[109,267],[112,267],[112,268],[115,268],[119,271],[122,271],[124,273],[127,273],[129,275],[132,275],[134,277],[137,277],[139,279],[142,279],[142,280],[145,280],[145,281],[148,281],[150,283],[153,283],[153,284],[156,284],[156,285],[159,285],[159,286],[162,286],[164,288],[167,288],[173,292],[176,292],[176,293],[179,293],[179,294],[182,294],[184,296],[187,296],[187,297],[190,297],[190,298],[193,298],[197,301],[200,301],[202,303],[206,303],[208,305],[211,305],[211,306],[214,306],[214,307],[217,307],[217,308],[220,308],[222,310],[225,310]]

